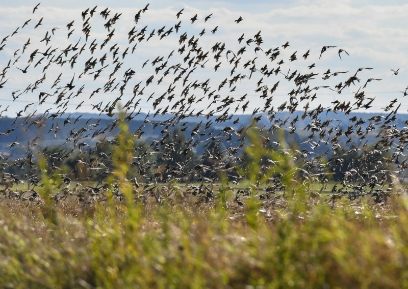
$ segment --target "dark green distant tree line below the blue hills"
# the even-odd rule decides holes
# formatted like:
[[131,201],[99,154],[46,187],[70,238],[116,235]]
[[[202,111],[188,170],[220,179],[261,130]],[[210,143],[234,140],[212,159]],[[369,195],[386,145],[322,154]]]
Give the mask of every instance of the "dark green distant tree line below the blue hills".
[[[245,177],[242,176],[245,174],[245,168],[253,162],[245,150],[245,147],[252,145],[251,141],[248,138],[238,139],[238,136],[233,133],[229,143],[240,143],[240,147],[228,146],[228,142],[225,142],[223,137],[210,137],[202,147],[202,154],[197,154],[192,149],[194,142],[202,140],[194,137],[193,134],[188,138],[180,128],[175,127],[171,131],[163,130],[162,136],[161,140],[134,140],[133,156],[129,160],[131,169],[127,172],[127,177],[130,180],[163,183],[172,181],[180,183],[216,182],[221,174],[224,174],[228,180],[238,182]],[[258,133],[262,147],[279,153],[293,154],[293,165],[300,168],[297,174],[300,179],[315,178],[324,182],[326,181],[325,178],[335,181],[372,178],[372,175],[361,176],[358,172],[361,161],[366,163],[366,171],[390,169],[384,161],[384,158],[389,157],[387,154],[369,154],[370,159],[365,159],[364,150],[339,146],[335,153],[326,154],[325,158],[319,157],[318,161],[322,163],[322,166],[320,169],[315,169],[314,174],[312,174],[313,177],[311,177],[303,174],[302,171],[310,171],[310,168],[307,167],[308,164],[310,161],[316,161],[313,158],[313,153],[309,154],[308,150],[301,149],[299,139],[293,137],[289,134],[283,134],[279,137],[268,135],[266,132]],[[283,149],[282,143],[287,144],[286,149]],[[47,147],[42,151],[41,148],[36,150],[31,148],[32,151],[30,152],[27,148],[20,147],[17,148],[20,151],[27,150],[25,157],[19,159],[3,158],[0,161],[0,166],[4,167],[8,174],[30,180],[35,176],[35,169],[33,171],[33,167],[36,168],[34,151],[41,151],[46,158],[47,167],[55,174],[78,181],[104,181],[114,170],[112,153],[116,147],[116,138],[109,141],[98,141],[94,146],[85,142],[66,143],[65,145]],[[371,148],[367,147],[366,150],[371,150]],[[324,166],[324,162],[327,160],[330,160],[330,165]],[[267,170],[276,164],[275,161],[268,156],[262,156],[259,160],[260,174],[266,174]],[[32,163],[31,168],[30,163]],[[349,173],[354,170],[356,174]],[[273,177],[271,177],[271,181],[274,181]],[[380,178],[389,178],[389,175],[384,174]]]

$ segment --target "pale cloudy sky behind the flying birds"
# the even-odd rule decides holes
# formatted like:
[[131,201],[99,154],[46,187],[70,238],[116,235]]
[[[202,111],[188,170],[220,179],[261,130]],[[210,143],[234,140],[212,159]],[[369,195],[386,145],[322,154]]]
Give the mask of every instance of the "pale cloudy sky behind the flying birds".
[[[320,104],[325,107],[333,106],[331,102],[335,100],[353,101],[354,92],[358,91],[367,79],[376,78],[381,80],[369,82],[364,89],[367,97],[375,97],[372,107],[367,111],[381,111],[391,100],[397,99],[401,102],[399,112],[407,112],[408,96],[404,97],[403,93],[401,93],[408,86],[408,71],[406,69],[408,64],[408,30],[406,30],[408,3],[405,1],[155,1],[150,2],[148,10],[142,14],[139,22],[136,24],[134,21],[135,14],[144,8],[147,3],[141,1],[41,1],[38,9],[33,14],[33,8],[38,4],[37,1],[16,0],[2,2],[0,7],[0,41],[8,35],[9,37],[3,43],[6,44],[5,47],[0,51],[0,72],[7,66],[9,61],[12,64],[7,69],[3,80],[0,81],[2,83],[8,79],[3,84],[4,88],[0,89],[0,111],[8,107],[3,115],[15,117],[17,112],[24,110],[25,106],[30,103],[33,104],[25,108],[22,115],[27,115],[34,111],[42,112],[45,109],[50,109],[50,111],[58,110],[56,105],[54,105],[57,94],[53,94],[56,88],[69,83],[73,76],[75,76],[74,92],[76,93],[82,85],[84,85],[84,89],[78,96],[71,97],[66,111],[96,113],[96,110],[92,110],[93,105],[99,102],[104,104],[112,102],[119,96],[119,91],[116,89],[107,93],[96,93],[92,98],[89,98],[94,90],[103,87],[115,67],[115,64],[112,64],[112,52],[109,52],[109,48],[115,43],[117,43],[116,47],[119,47],[119,61],[123,62],[123,65],[115,74],[114,85],[116,83],[120,83],[119,86],[122,85],[123,82],[120,82],[120,79],[123,79],[123,73],[127,69],[133,69],[136,72],[131,81],[126,84],[126,91],[121,98],[121,103],[124,104],[133,97],[132,91],[135,84],[142,81],[141,85],[144,85],[150,75],[155,75],[155,67],[151,65],[151,61],[156,59],[156,57],[164,56],[166,60],[170,52],[175,50],[168,60],[167,67],[179,63],[182,66],[186,66],[183,63],[183,58],[187,52],[183,55],[177,52],[177,49],[180,48],[179,37],[186,32],[189,38],[193,35],[197,38],[202,29],[205,29],[206,34],[199,37],[198,44],[203,50],[211,50],[211,47],[217,42],[225,43],[226,49],[222,54],[220,59],[221,65],[216,73],[214,72],[214,66],[217,62],[210,51],[208,63],[206,63],[204,68],[198,67],[194,71],[191,77],[192,81],[197,80],[199,83],[210,79],[212,88],[217,89],[223,79],[231,79],[230,71],[232,67],[227,63],[226,51],[232,50],[236,53],[241,47],[246,46],[245,53],[241,55],[241,70],[237,69],[237,73],[241,73],[241,75],[248,76],[248,69],[244,70],[241,66],[248,60],[253,60],[254,57],[258,57],[256,60],[258,69],[263,67],[264,64],[268,65],[268,69],[276,68],[278,66],[276,62],[282,59],[284,63],[281,65],[281,71],[284,74],[288,71],[290,73],[294,71],[318,73],[315,79],[310,81],[311,87],[330,85],[331,88],[334,88],[340,81],[344,83],[358,68],[372,68],[371,70],[359,72],[358,76],[361,82],[344,89],[342,94],[324,88],[316,90],[318,95],[317,99],[310,104],[312,108]],[[81,12],[96,5],[98,6],[96,12],[90,19],[90,37],[86,41],[81,31],[82,23],[84,22]],[[106,20],[99,13],[107,7],[111,10],[108,18],[112,17],[115,13],[121,13],[121,15],[119,20],[112,25],[111,30],[115,29],[114,36],[106,47],[100,50],[99,46],[109,32],[103,26]],[[177,19],[176,13],[181,9],[184,9],[183,14],[180,16],[180,19]],[[191,23],[190,18],[195,14],[197,14],[198,19]],[[205,22],[204,18],[209,14],[212,14],[211,18]],[[238,24],[235,23],[234,20],[240,16],[243,18],[243,21]],[[42,24],[34,29],[35,24],[38,23],[41,17],[43,17]],[[32,20],[22,28],[23,23],[28,19]],[[74,31],[67,39],[67,34],[70,31],[67,30],[66,25],[72,20],[74,20],[74,23],[70,31]],[[160,40],[157,31],[164,25],[166,26],[166,31],[180,20],[182,23],[179,33],[175,33],[173,27],[173,32]],[[129,44],[127,42],[127,33],[135,25],[135,30],[138,32],[147,25],[146,38],[153,29],[155,29],[156,35],[148,42],[143,40],[138,43],[135,52],[131,54],[130,51],[137,41]],[[212,34],[210,31],[215,26],[218,26],[218,30]],[[11,36],[17,27],[20,27],[17,30],[17,34]],[[48,45],[45,41],[40,42],[47,32],[51,35],[53,28],[56,28],[55,34],[52,35]],[[259,31],[261,31],[263,39],[263,43],[260,46],[263,51],[267,51],[269,48],[281,47],[281,54],[274,63],[268,60],[267,56],[262,55],[262,51],[254,52],[256,45],[253,43],[246,45],[245,43],[247,39],[253,38]],[[242,34],[244,34],[244,41],[238,43],[237,39]],[[21,54],[22,46],[29,38],[31,44]],[[89,44],[94,39],[97,40],[98,49],[96,49],[94,54],[90,54]],[[17,69],[27,67],[30,54],[35,49],[39,49],[39,52],[44,52],[49,47],[52,47],[50,50],[57,48],[55,52],[57,56],[69,44],[74,46],[78,41],[79,47],[86,44],[86,51],[78,56],[77,62],[72,69],[69,63],[62,67],[52,64],[45,71],[46,79],[39,85],[38,89],[19,95],[31,83],[43,77],[43,67],[48,63],[47,59],[44,59],[37,67],[34,67],[42,58],[42,55],[37,53],[33,63],[27,69],[27,73],[22,73]],[[283,49],[282,45],[287,41],[289,46]],[[321,59],[319,59],[320,51],[325,45],[336,47],[327,49],[322,54]],[[127,47],[129,47],[129,54],[122,60],[121,54]],[[349,55],[342,53],[341,60],[338,55],[340,48],[345,49],[349,53]],[[304,60],[302,55],[309,49],[310,55]],[[69,56],[74,55],[75,52],[78,51],[70,51]],[[93,74],[84,74],[78,79],[78,76],[84,70],[84,63],[90,57],[96,57],[99,60],[106,52],[108,54],[107,63],[109,66],[100,73],[98,78],[94,80]],[[297,60],[291,62],[289,58],[294,52],[296,52]],[[69,59],[70,57],[67,58],[67,60]],[[15,60],[17,62],[14,63]],[[142,68],[147,60],[149,62]],[[310,70],[308,66],[312,63],[315,63],[316,67]],[[98,62],[95,68],[89,70],[88,73],[96,71],[101,67],[101,64]],[[398,68],[398,74],[393,74],[391,69],[396,70]],[[323,80],[323,73],[328,69],[332,73],[347,73]],[[62,73],[60,83],[51,89],[50,87],[60,73]],[[154,111],[152,107],[153,101],[167,90],[174,79],[174,75],[172,78],[164,77],[163,81],[158,84],[157,82],[160,77],[160,73],[155,75],[153,82],[146,87],[143,94],[137,96],[136,100],[140,99],[138,109],[140,108],[145,112]],[[246,113],[250,113],[254,108],[264,105],[264,99],[259,97],[259,93],[254,92],[254,89],[257,88],[257,82],[261,79],[262,84],[267,85],[269,88],[279,81],[279,87],[273,94],[272,105],[277,107],[289,100],[288,92],[294,88],[294,85],[293,82],[287,81],[281,73],[276,76],[273,74],[267,78],[260,72],[255,72],[251,79],[240,79],[236,83],[237,89],[235,91],[231,92],[231,88],[228,88],[228,85],[226,85],[217,94],[220,95],[220,98],[231,96],[234,99],[238,99],[247,93],[250,102]],[[180,96],[183,90],[182,81],[180,80],[175,83],[174,99],[162,102],[159,107],[171,106],[177,100],[177,97]],[[14,101],[13,92],[15,92],[15,96],[19,95]],[[49,96],[42,105],[39,105],[39,92],[47,92],[52,96]],[[155,93],[155,95],[149,99],[151,93]],[[194,90],[191,94],[197,99],[204,96],[202,90]],[[208,99],[206,96],[202,101],[195,104],[195,112],[207,109],[212,101],[213,99]],[[82,105],[78,107],[80,103]],[[217,105],[217,102],[213,105]],[[299,105],[299,109],[302,109],[302,107],[303,103]],[[230,112],[234,112],[234,108],[235,105],[232,105]],[[237,113],[242,113],[242,110],[239,109]]]

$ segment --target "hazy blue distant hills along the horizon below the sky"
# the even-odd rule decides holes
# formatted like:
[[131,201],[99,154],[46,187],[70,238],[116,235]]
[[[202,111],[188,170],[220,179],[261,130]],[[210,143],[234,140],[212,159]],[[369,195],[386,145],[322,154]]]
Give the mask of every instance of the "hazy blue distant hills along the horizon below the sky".
[[[271,121],[272,124],[276,124],[282,129],[289,131],[290,122],[297,118],[295,124],[296,131],[295,133],[289,135],[286,133],[288,140],[296,140],[300,144],[301,148],[308,148],[307,145],[302,145],[302,142],[308,139],[310,131],[305,129],[310,124],[309,117],[305,117],[302,120],[303,111],[295,111],[293,114],[289,112],[277,112],[274,115],[267,114],[234,114],[229,115],[228,118],[223,121],[217,121],[219,115],[213,115],[212,117],[206,118],[205,116],[200,115],[199,117],[186,117],[180,120],[178,123],[179,126],[184,124],[184,133],[187,137],[193,137],[191,135],[192,130],[201,123],[201,133],[209,133],[212,131],[212,135],[223,135],[223,130],[225,127],[232,127],[236,130],[239,130],[243,126],[248,126],[254,117],[261,117],[258,123],[259,127],[269,125]],[[332,120],[330,125],[333,127],[337,126],[337,129],[346,130],[349,126],[352,126],[353,123],[350,119],[356,120],[369,120],[371,118],[377,118],[378,113],[365,113],[365,112],[351,112],[349,115],[344,113],[334,113],[334,112],[322,112],[319,114],[320,122],[325,122],[327,120]],[[173,118],[173,114],[158,114],[156,117],[148,115],[146,113],[139,113],[135,118],[129,121],[129,130],[135,132],[141,128],[140,131],[143,131],[142,139],[149,140],[155,138],[161,138],[161,131],[163,127],[161,125],[155,126],[158,122],[165,122]],[[78,119],[79,118],[79,119]],[[64,113],[59,115],[56,118],[48,118],[46,121],[43,121],[41,125],[32,123],[36,117],[32,118],[31,121],[28,121],[23,125],[23,119],[19,118],[14,123],[14,119],[11,118],[1,118],[0,119],[0,152],[9,152],[10,148],[7,148],[13,141],[18,141],[22,145],[27,145],[29,141],[34,138],[37,138],[36,142],[42,143],[44,147],[46,146],[55,146],[62,145],[64,143],[69,144],[71,137],[75,134],[80,133],[82,138],[86,140],[90,145],[93,145],[96,141],[103,138],[112,138],[117,132],[118,128],[115,127],[116,118],[110,118],[106,114],[96,114],[96,113]],[[145,120],[148,120],[145,122]],[[66,122],[66,121],[69,122]],[[396,128],[402,128],[407,126],[408,114],[396,114],[396,121],[394,122]],[[65,125],[64,125],[65,122]],[[14,124],[13,124],[14,123]],[[97,124],[97,125],[96,125]],[[207,129],[204,129],[208,125]],[[329,126],[330,126],[329,125]],[[364,122],[362,128],[366,128],[369,125],[369,122]],[[12,130],[14,128],[14,130]],[[84,129],[85,128],[85,129]],[[169,130],[172,130],[174,127],[170,126]],[[12,130],[7,134],[8,130]],[[369,143],[375,141],[376,131],[372,131],[367,135],[367,140]],[[95,136],[96,135],[96,136]],[[205,137],[204,137],[205,138]],[[225,142],[225,140],[222,140]],[[316,152],[324,152],[327,146],[319,147]],[[197,153],[201,153],[203,150],[202,146],[197,147]],[[21,152],[23,151],[20,147],[13,148],[12,151]],[[23,153],[23,152],[22,152]],[[18,154],[17,154],[18,155]]]

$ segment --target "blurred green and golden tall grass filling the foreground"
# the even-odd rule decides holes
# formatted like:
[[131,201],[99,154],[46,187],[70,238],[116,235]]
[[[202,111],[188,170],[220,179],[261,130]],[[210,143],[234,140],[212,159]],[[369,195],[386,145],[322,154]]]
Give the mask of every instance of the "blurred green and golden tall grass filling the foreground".
[[248,179],[265,181],[257,162],[271,154],[279,165],[268,174],[283,176],[284,197],[248,195],[239,206],[221,183],[209,203],[142,202],[126,179],[132,138],[121,130],[106,202],[48,201],[45,176],[40,204],[0,204],[2,287],[408,287],[403,195],[386,206],[313,198],[293,181],[290,155],[264,150],[253,137]]

